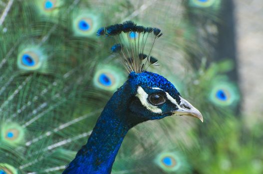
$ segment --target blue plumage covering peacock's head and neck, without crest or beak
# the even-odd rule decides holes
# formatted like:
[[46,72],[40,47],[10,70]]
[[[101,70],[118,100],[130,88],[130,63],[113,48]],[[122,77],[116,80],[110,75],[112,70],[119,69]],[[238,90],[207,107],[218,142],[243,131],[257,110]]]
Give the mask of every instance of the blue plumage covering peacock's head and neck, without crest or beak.
[[[140,88],[149,96],[166,95],[165,103],[155,105],[155,109],[160,109],[161,112],[154,112],[144,105],[146,103],[141,100],[144,96],[139,96]],[[180,93],[164,77],[146,71],[130,73],[125,84],[106,104],[87,144],[77,153],[63,174],[109,174],[128,130],[141,122],[173,115],[179,109],[181,100]],[[173,103],[174,101],[177,103]]]

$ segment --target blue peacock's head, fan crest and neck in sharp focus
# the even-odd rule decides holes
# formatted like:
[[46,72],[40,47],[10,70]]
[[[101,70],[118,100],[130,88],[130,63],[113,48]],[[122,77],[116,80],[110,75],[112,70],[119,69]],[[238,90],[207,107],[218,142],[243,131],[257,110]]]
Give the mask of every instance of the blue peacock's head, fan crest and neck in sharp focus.
[[[138,34],[136,38],[134,33]],[[119,53],[125,69],[129,72],[128,80],[109,99],[87,144],[78,151],[63,174],[110,174],[128,130],[144,121],[171,115],[189,115],[203,122],[201,112],[182,98],[167,79],[146,71],[148,66],[158,62],[150,56],[150,52],[156,39],[163,35],[161,30],[125,21],[97,31],[98,36],[115,36],[120,41],[125,40],[122,34],[127,35],[128,44],[117,43],[111,47],[111,51]],[[145,45],[148,37],[152,36],[153,43],[146,55]]]

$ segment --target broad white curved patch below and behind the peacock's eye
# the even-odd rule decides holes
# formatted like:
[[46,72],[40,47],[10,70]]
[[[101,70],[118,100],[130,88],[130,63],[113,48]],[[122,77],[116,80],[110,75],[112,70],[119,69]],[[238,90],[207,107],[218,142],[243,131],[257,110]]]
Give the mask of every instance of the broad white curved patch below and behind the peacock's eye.
[[140,99],[142,105],[144,105],[148,110],[154,113],[162,113],[162,110],[157,106],[150,104],[147,100],[148,94],[143,90],[142,87],[138,87],[136,96]]

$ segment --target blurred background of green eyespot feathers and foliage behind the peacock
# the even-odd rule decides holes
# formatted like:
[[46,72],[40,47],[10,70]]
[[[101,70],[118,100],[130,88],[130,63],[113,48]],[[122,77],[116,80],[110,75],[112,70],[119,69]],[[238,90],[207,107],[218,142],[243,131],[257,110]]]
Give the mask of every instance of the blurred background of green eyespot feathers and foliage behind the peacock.
[[128,76],[96,32],[126,20],[162,30],[148,71],[204,123],[136,126],[112,174],[263,174],[262,19],[262,0],[0,0],[0,174],[60,174],[74,159]]

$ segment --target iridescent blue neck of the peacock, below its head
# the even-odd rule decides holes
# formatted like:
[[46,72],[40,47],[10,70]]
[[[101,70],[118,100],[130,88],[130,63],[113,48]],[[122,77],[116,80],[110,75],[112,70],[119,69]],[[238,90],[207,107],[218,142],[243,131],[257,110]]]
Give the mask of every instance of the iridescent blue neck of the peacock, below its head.
[[[110,174],[120,145],[133,125],[123,119],[127,103],[114,93],[97,120],[88,142],[77,153],[63,174]],[[124,96],[127,97],[127,96]],[[120,101],[121,99],[121,101]]]

